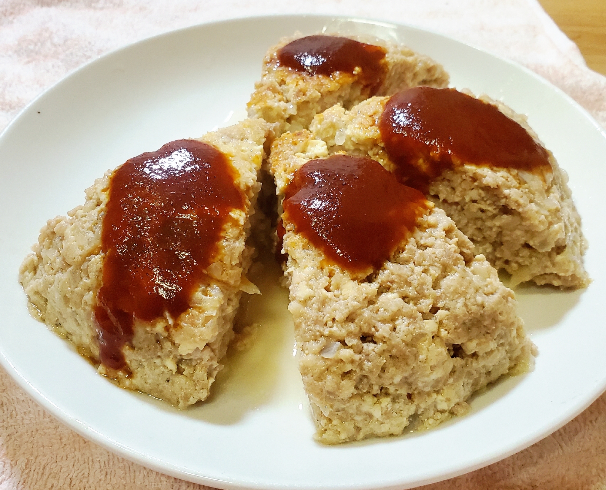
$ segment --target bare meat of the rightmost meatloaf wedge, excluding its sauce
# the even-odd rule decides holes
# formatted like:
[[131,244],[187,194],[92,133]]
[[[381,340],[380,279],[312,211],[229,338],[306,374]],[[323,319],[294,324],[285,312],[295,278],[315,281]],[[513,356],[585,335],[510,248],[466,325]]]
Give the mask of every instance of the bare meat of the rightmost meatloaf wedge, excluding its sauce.
[[[538,136],[526,118],[487,96],[533,139]],[[335,106],[318,114],[310,125],[313,137],[327,144],[328,153],[347,151],[370,156],[393,170],[383,148],[378,121],[388,98],[376,97],[347,111]],[[428,198],[442,208],[494,267],[511,274],[511,283],[584,287],[590,279],[582,256],[587,241],[574,207],[568,176],[550,151],[553,173],[545,178],[514,169],[463,165],[449,170],[429,188]]]

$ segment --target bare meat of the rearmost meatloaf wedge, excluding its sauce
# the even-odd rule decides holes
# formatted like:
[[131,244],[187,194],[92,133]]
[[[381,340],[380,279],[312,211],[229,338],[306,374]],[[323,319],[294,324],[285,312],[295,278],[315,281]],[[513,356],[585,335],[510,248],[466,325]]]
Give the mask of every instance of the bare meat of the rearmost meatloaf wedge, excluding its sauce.
[[[332,76],[310,75],[289,70],[277,65],[279,48],[300,38],[284,38],[269,48],[261,72],[261,80],[255,84],[255,92],[248,102],[248,116],[277,123],[275,136],[284,131],[307,128],[315,114],[328,107],[351,105],[364,101],[368,88],[359,76],[349,73],[334,73]],[[379,87],[378,95],[391,95],[398,90],[418,85],[446,87],[448,73],[428,56],[419,55],[409,48],[382,41],[377,38],[344,36],[367,44],[378,45],[387,50],[385,64],[387,75]]]

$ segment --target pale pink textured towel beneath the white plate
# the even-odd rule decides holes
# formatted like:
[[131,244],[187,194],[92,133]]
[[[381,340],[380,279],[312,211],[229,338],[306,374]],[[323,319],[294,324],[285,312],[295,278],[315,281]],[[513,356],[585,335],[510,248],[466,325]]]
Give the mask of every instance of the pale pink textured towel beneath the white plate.
[[[109,50],[187,25],[271,13],[345,14],[439,31],[525,65],[606,126],[606,78],[587,68],[576,45],[536,0],[0,0],[0,130],[42,90]],[[0,368],[0,490],[47,488],[205,487],[130,463],[82,439]],[[530,448],[424,487],[488,488],[605,489],[606,394]]]

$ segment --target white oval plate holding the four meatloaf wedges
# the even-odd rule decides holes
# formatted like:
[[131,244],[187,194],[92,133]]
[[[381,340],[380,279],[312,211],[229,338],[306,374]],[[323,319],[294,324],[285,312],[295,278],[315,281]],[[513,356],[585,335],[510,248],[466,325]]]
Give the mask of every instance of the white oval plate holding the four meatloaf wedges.
[[[165,142],[201,136],[244,114],[268,46],[325,25],[374,33],[432,56],[454,87],[528,114],[562,167],[590,242],[583,291],[518,291],[536,368],[473,399],[470,415],[391,439],[326,447],[292,357],[287,295],[258,314],[259,342],[215,383],[212,399],[179,412],[116,388],[67,342],[28,316],[19,263],[46,219],[81,204],[108,168]],[[90,440],[149,468],[221,488],[404,488],[471,471],[558,429],[606,388],[602,247],[606,134],[535,74],[444,36],[401,25],[280,16],[200,25],[147,39],[85,65],[30,104],[0,137],[0,360],[47,411]],[[273,284],[273,285],[272,285]],[[268,297],[267,295],[266,297]]]

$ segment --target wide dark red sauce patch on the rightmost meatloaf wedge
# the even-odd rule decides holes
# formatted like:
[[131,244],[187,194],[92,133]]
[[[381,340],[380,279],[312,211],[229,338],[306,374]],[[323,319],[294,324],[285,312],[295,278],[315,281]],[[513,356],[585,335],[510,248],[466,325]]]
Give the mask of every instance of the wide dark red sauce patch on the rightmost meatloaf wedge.
[[443,171],[464,164],[551,171],[547,151],[521,125],[454,88],[396,93],[385,105],[379,131],[398,179],[423,193]]

